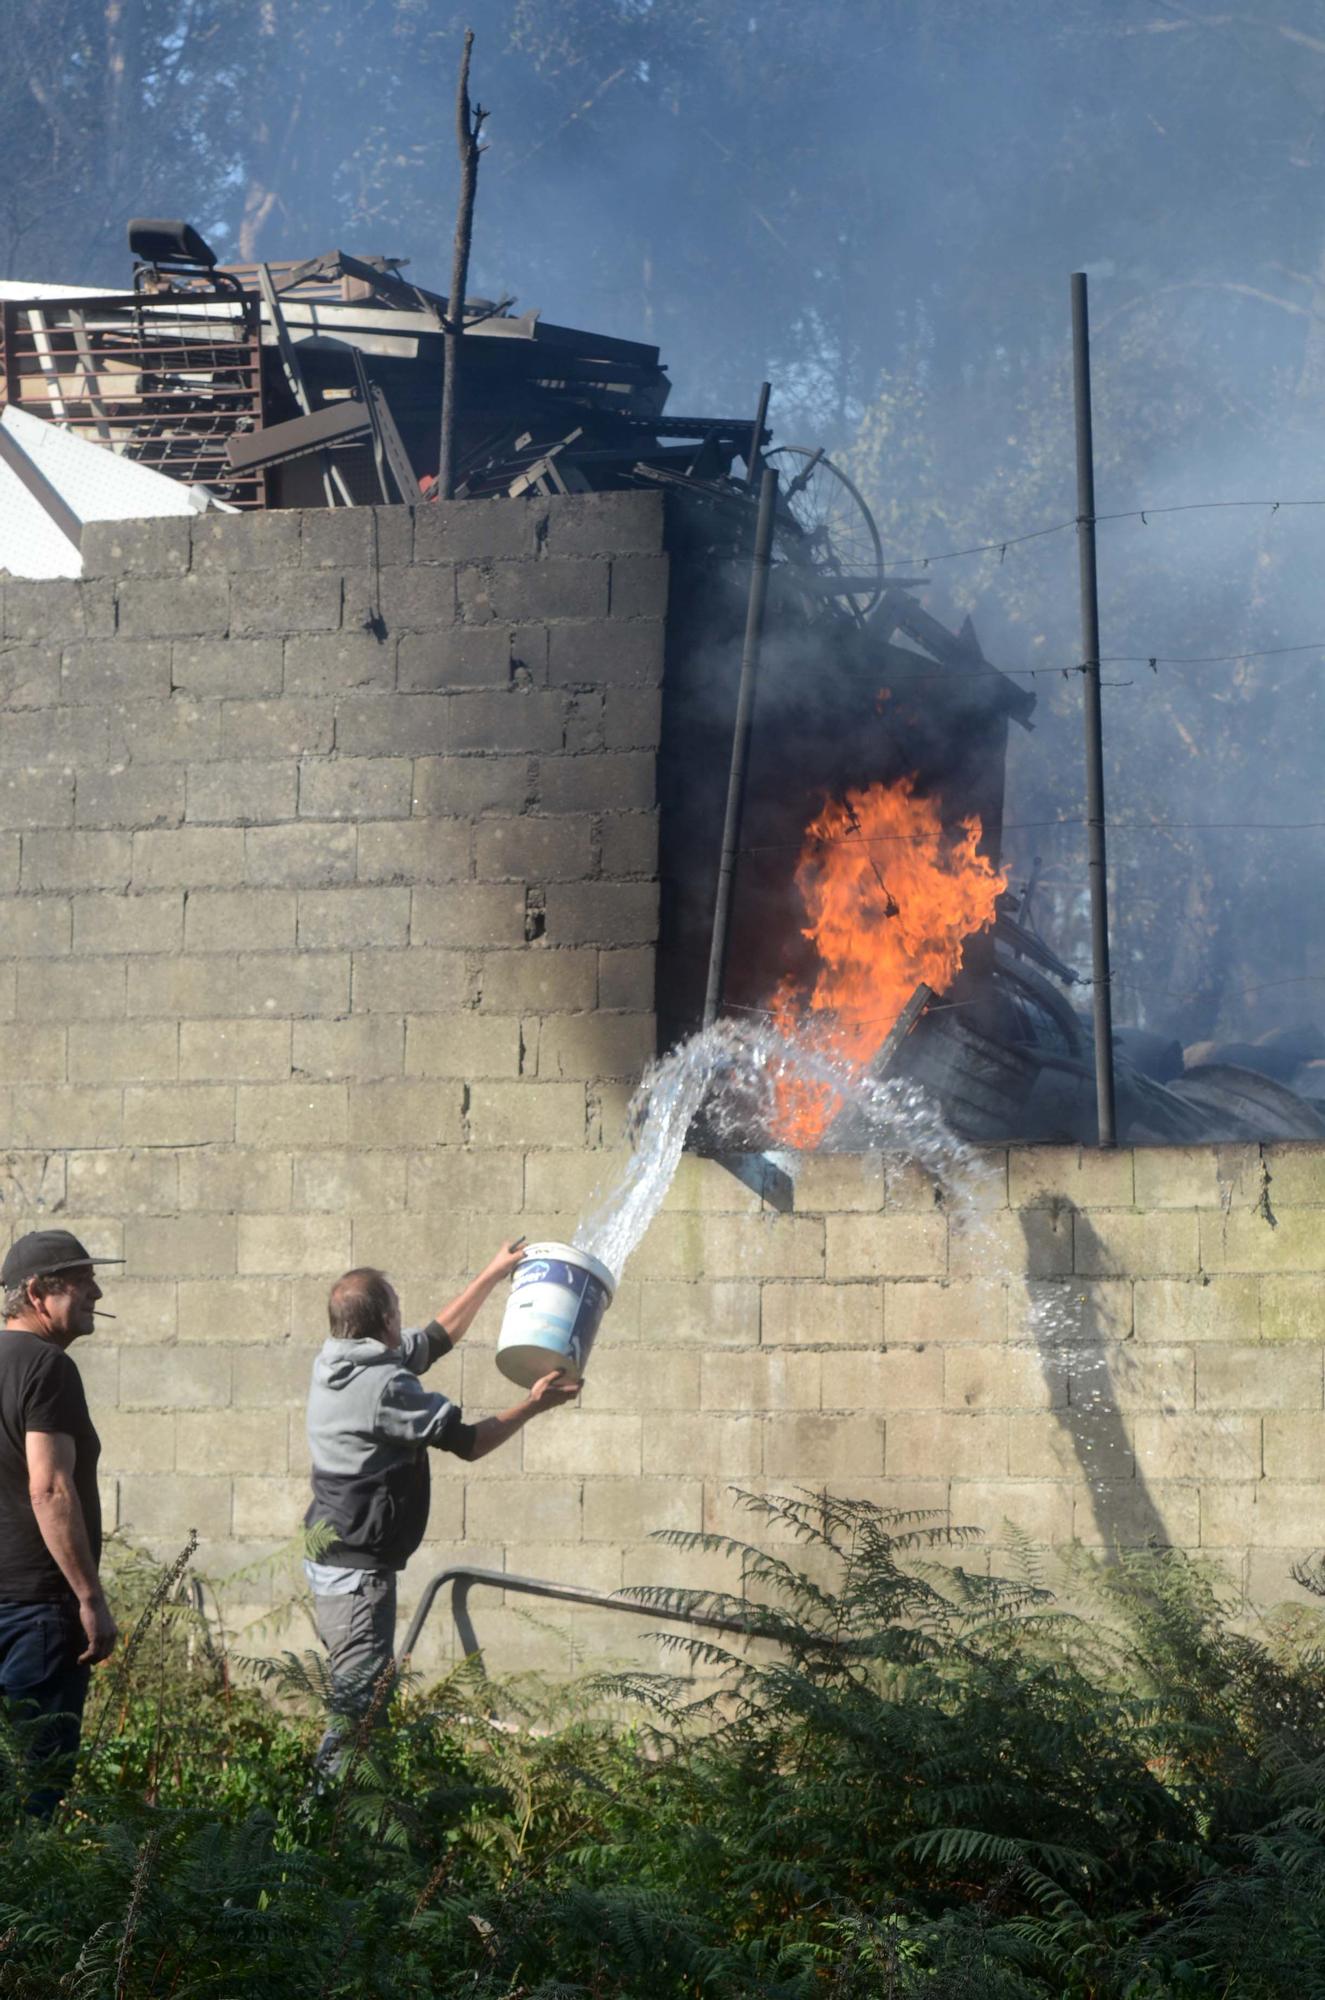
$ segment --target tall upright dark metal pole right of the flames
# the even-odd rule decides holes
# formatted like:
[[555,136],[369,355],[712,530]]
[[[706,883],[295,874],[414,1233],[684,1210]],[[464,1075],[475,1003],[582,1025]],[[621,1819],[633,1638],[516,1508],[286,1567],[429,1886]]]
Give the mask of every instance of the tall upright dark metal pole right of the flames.
[[1099,710],[1099,586],[1095,576],[1095,440],[1091,430],[1091,318],[1085,272],[1073,272],[1073,392],[1077,404],[1077,556],[1085,716],[1085,818],[1095,996],[1095,1104],[1099,1144],[1117,1146],[1113,1104],[1113,990],[1109,984],[1109,870],[1105,856],[1105,742]]

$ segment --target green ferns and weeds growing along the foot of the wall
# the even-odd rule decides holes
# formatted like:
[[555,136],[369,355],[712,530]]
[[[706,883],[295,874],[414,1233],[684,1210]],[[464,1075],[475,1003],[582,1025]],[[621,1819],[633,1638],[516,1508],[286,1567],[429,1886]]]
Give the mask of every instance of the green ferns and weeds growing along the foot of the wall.
[[1167,1552],[1067,1552],[1055,1598],[1029,1546],[989,1576],[923,1518],[745,1504],[763,1548],[667,1538],[741,1588],[656,1600],[749,1636],[570,1688],[470,1660],[324,1792],[320,1662],[244,1670],[188,1552],[122,1564],[134,1642],[52,1826],[0,1740],[0,1994],[1325,1996],[1315,1614],[1243,1630]]

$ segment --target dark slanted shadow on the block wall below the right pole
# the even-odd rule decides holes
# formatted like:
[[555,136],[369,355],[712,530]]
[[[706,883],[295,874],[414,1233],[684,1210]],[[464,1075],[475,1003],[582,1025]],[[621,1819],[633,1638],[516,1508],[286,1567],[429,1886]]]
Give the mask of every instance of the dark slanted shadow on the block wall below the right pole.
[[[1099,1236],[1073,1202],[1059,1212],[1073,1218],[1073,1266],[1107,1268],[1099,1256]],[[1029,1214],[1023,1228],[1033,1254]],[[1043,1280],[1031,1284],[1027,1336],[1035,1342],[1051,1392],[1067,1380],[1067,1404],[1055,1416],[1067,1432],[1081,1478],[1091,1496],[1095,1534],[1109,1554],[1123,1548],[1167,1548],[1169,1528],[1137,1464],[1135,1448],[1119,1404],[1115,1360],[1117,1328],[1089,1280]],[[1125,1364],[1123,1364],[1125,1366]],[[1165,1412],[1167,1414],[1167,1412]]]

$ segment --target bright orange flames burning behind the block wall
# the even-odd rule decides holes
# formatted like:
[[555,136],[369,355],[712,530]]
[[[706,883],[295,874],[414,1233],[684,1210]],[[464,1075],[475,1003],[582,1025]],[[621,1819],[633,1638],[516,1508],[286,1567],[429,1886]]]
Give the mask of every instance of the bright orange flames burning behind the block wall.
[[[921,984],[947,992],[965,940],[989,930],[1007,878],[979,854],[981,822],[945,834],[935,798],[915,778],[831,800],[805,832],[797,890],[819,954],[809,994],[787,980],[773,1002],[783,1032],[865,1066]],[[831,1088],[787,1086],[781,1132],[815,1146],[837,1110]]]

